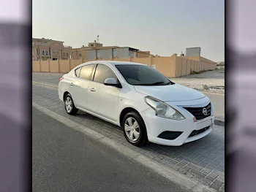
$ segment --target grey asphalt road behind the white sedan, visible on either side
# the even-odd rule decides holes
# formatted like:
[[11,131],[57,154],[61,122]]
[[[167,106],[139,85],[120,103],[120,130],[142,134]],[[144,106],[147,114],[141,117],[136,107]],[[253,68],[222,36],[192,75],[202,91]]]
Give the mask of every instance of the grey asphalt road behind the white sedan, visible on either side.
[[[63,74],[60,73],[33,73],[32,80],[36,82],[46,82],[54,85],[59,84],[59,79]],[[205,92],[204,92],[205,93]],[[225,95],[217,93],[205,93],[214,104],[216,118],[225,120]]]

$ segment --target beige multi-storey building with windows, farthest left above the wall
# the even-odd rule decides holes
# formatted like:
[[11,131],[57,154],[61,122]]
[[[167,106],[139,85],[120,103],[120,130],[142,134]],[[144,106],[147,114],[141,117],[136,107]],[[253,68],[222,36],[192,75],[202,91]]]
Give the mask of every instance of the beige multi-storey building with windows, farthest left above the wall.
[[70,58],[72,47],[63,44],[64,42],[52,39],[32,38],[32,61],[67,60]]

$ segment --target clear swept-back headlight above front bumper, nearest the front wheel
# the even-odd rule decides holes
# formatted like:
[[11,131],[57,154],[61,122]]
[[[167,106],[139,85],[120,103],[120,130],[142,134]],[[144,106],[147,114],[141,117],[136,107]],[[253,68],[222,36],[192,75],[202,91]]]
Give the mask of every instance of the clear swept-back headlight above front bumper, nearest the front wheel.
[[173,109],[169,105],[162,101],[154,99],[151,96],[145,97],[146,104],[148,104],[153,110],[155,110],[156,115],[162,118],[170,118],[173,120],[183,120],[184,116],[180,112]]

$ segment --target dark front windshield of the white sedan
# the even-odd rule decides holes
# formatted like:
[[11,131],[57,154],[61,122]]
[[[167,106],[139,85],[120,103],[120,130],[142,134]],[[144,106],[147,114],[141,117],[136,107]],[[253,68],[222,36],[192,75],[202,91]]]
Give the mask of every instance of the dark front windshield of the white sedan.
[[143,65],[116,65],[124,79],[131,85],[173,85],[157,70]]

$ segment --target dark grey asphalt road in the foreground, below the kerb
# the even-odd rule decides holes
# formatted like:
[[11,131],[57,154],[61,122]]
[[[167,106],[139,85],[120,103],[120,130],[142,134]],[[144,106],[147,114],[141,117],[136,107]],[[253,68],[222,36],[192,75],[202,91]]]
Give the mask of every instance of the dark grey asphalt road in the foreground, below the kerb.
[[179,186],[32,109],[33,191],[184,191]]

